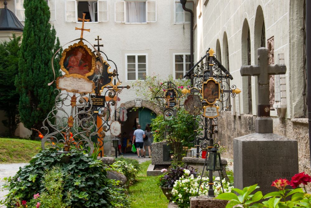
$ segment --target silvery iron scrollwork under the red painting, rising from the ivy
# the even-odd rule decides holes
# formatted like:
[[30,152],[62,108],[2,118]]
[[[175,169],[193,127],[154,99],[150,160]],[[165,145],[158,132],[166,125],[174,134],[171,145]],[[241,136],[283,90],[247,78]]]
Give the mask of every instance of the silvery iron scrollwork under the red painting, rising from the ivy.
[[[46,134],[41,141],[42,149],[50,146],[67,152],[73,147],[91,155],[94,151],[92,139],[98,134],[91,110],[92,94],[89,97],[78,94],[76,97],[76,94],[70,96],[68,92],[58,89],[54,92],[58,93],[55,105],[43,121],[42,128]],[[65,108],[69,106],[71,111],[67,113]]]

